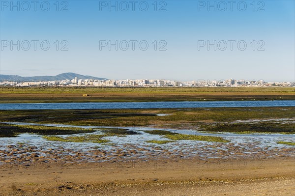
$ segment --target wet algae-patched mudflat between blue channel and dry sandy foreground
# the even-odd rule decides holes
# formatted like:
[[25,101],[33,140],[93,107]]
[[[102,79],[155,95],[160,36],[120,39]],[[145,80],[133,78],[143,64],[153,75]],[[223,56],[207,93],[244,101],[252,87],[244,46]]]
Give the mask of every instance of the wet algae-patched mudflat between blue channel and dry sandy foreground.
[[2,165],[294,157],[293,107],[0,112]]

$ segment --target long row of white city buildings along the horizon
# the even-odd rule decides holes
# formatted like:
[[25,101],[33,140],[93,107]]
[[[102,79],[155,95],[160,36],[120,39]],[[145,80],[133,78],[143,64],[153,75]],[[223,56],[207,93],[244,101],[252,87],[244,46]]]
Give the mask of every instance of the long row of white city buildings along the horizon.
[[0,85],[4,86],[100,86],[100,87],[160,87],[160,86],[177,86],[177,87],[241,87],[241,86],[295,86],[291,82],[268,82],[246,81],[246,80],[197,80],[189,82],[172,81],[172,80],[82,80],[74,78],[72,80],[61,81],[30,81],[30,82],[15,82],[3,81]]

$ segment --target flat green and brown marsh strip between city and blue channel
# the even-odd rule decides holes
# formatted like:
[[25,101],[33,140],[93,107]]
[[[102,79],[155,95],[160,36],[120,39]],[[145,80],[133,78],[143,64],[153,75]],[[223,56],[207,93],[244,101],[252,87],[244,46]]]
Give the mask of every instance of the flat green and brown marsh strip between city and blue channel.
[[293,87],[2,86],[0,103],[294,100],[294,93]]

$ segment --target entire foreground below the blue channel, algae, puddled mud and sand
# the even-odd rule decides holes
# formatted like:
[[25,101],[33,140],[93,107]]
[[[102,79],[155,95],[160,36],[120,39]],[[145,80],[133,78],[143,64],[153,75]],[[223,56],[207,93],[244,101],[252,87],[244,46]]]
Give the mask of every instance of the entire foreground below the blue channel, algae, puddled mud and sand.
[[0,113],[3,196],[294,192],[294,107]]

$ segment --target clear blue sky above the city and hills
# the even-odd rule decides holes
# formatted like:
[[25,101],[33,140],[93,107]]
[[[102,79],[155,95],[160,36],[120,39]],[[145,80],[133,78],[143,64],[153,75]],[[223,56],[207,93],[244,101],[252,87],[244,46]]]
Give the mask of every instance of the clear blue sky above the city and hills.
[[[109,0],[59,1],[58,7],[56,0],[48,0],[50,8],[38,1],[36,11],[30,0],[13,1],[16,6],[10,0],[0,2],[1,74],[75,72],[109,79],[295,80],[294,0],[244,0],[232,5],[228,0],[211,0],[215,7],[208,6],[207,0],[159,0],[156,7],[154,0],[135,0],[134,11],[130,0],[118,0],[118,11],[109,7]],[[18,45],[18,40],[20,50],[17,46],[11,50],[11,41]],[[27,51],[25,40],[30,42]],[[39,41],[36,50],[32,40]],[[40,46],[44,40],[50,43],[47,51]],[[61,43],[63,40],[66,42]],[[121,49],[118,46],[116,51],[113,46],[109,50],[101,46],[101,40],[113,44],[126,40],[129,48],[121,50],[126,46],[121,42]],[[138,41],[134,50],[130,40]],[[139,48],[142,40],[148,43],[146,51]],[[216,51],[214,46],[207,50],[207,41],[213,44],[214,40]],[[225,50],[222,40],[227,43]],[[235,41],[233,50],[229,40]],[[62,51],[66,43],[68,50]],[[201,47],[201,43],[206,45]],[[243,43],[247,44],[245,50],[241,50]],[[165,44],[166,50],[159,50]]]

